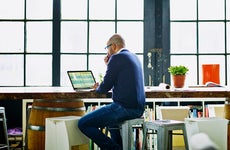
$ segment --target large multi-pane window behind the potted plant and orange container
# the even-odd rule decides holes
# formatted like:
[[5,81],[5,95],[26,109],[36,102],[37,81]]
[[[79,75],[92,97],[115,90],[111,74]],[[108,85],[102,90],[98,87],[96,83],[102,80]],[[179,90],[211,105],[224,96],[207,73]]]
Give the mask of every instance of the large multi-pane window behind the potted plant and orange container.
[[220,65],[230,81],[230,0],[170,0],[171,65],[189,67],[186,84],[202,84],[202,65]]

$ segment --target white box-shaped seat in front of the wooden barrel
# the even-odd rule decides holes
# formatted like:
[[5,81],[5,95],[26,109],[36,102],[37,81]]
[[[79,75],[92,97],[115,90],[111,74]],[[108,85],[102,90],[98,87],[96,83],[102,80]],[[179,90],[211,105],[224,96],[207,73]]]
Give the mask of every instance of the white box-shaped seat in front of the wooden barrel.
[[46,118],[45,149],[72,150],[88,149],[89,138],[78,128],[81,116],[62,116]]

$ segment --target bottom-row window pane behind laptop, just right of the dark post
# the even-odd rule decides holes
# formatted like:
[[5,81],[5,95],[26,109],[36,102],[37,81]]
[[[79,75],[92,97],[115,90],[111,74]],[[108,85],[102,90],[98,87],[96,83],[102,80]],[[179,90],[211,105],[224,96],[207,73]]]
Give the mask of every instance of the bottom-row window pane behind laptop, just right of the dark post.
[[71,86],[67,71],[86,70],[86,55],[61,55],[61,86]]

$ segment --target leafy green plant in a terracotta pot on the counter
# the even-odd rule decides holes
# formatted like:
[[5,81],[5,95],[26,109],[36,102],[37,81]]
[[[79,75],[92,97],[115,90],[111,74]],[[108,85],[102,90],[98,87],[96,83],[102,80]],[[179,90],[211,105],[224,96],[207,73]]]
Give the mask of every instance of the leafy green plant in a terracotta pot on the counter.
[[186,73],[189,69],[186,66],[170,66],[168,68],[168,72],[171,73],[174,87],[175,88],[182,88],[184,87]]

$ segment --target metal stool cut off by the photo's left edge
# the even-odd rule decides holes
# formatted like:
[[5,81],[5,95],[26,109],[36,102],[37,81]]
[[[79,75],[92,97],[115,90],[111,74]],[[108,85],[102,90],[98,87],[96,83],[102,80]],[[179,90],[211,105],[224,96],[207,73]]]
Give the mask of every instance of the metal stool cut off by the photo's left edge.
[[5,141],[6,141],[5,144],[0,144],[0,149],[7,148],[7,150],[9,150],[10,146],[9,146],[9,140],[8,140],[8,134],[7,134],[6,115],[5,115],[5,108],[4,107],[0,107],[0,121],[2,122]]

